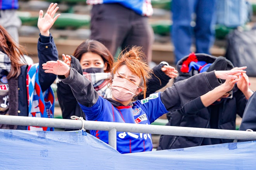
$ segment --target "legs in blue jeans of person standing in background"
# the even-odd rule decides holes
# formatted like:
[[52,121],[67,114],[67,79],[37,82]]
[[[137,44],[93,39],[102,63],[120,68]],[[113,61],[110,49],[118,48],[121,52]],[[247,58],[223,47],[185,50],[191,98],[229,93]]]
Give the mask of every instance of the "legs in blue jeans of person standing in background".
[[174,46],[175,64],[191,53],[210,54],[215,39],[215,0],[172,0],[171,39]]

